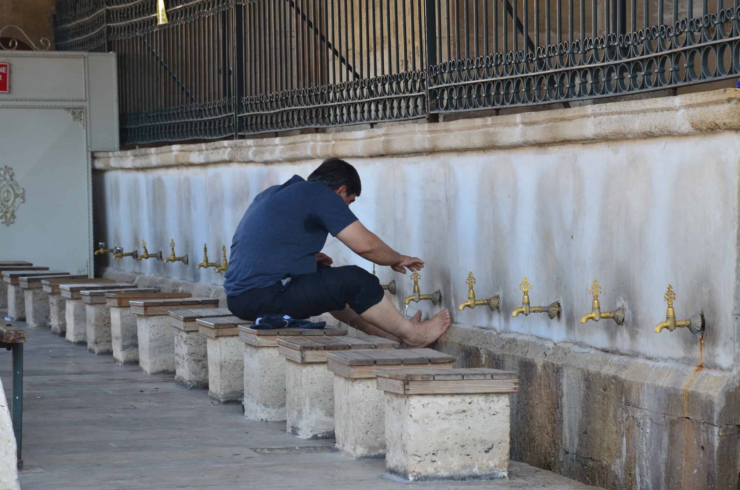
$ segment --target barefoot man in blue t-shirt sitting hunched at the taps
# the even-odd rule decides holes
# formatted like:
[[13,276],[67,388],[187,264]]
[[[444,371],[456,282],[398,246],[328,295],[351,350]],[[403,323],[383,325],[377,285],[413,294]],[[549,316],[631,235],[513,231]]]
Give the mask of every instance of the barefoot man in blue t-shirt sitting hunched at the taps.
[[331,267],[332,259],[320,253],[331,233],[360,257],[396,272],[423,268],[423,260],[391,249],[349,210],[360,191],[357,170],[330,158],[308,181],[294,175],[260,192],[232,241],[223,283],[229,310],[244,320],[330,312],[363,332],[390,334],[408,347],[440,338],[450,326],[447,309],[423,322],[420,312],[409,320],[383,294],[376,276],[358,266]]

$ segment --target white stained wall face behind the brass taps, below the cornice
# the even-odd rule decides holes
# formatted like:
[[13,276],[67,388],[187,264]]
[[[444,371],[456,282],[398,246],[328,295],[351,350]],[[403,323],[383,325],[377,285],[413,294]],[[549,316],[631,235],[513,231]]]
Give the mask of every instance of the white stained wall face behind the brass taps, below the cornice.
[[[656,334],[665,320],[663,294],[676,291],[676,315],[703,309],[704,364],[731,369],[736,281],[736,132],[565,144],[512,150],[350,158],[363,180],[351,209],[400,252],[426,261],[420,288],[441,289],[454,323],[517,332],[554,342],[656,359],[698,361],[698,337],[687,329]],[[214,269],[195,269],[203,242],[209,260],[227,255],[243,211],[262,189],[293,174],[307,177],[320,160],[294,164],[216,164],[182,169],[98,172],[96,206],[104,224],[98,240],[129,251],[147,240],[149,252],[178,255],[189,266],[158,261],[114,261],[115,268],[221,283]],[[100,209],[104,209],[101,213]],[[336,265],[371,264],[333,238],[324,252]],[[109,259],[110,260],[110,259]],[[457,311],[467,299],[465,278],[477,279],[477,298],[499,294],[500,312]],[[408,275],[378,268],[380,280],[399,284],[403,308]],[[532,306],[560,301],[562,314],[511,317],[527,275]],[[624,303],[627,319],[582,324],[591,311],[588,286],[597,278],[602,311]],[[439,307],[411,303],[408,313]]]

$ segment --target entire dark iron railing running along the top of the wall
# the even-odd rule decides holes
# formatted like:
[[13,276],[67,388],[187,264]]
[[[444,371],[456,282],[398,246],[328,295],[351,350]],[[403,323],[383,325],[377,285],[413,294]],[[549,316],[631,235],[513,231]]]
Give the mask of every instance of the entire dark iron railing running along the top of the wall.
[[58,0],[115,51],[121,141],[240,138],[738,76],[740,0]]

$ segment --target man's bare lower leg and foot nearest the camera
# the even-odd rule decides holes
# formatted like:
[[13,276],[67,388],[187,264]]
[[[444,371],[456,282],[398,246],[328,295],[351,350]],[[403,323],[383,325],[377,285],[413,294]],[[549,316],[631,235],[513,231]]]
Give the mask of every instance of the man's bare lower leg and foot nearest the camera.
[[388,296],[360,315],[371,326],[388,332],[405,342],[408,347],[426,347],[450,328],[450,312],[443,309],[429,320],[417,323],[401,315]]

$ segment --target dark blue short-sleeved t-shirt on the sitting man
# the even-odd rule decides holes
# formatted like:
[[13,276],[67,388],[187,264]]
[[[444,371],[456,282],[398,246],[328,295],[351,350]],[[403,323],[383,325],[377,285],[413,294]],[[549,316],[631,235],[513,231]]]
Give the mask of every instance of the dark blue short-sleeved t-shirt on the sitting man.
[[316,272],[326,236],[357,221],[329,186],[298,175],[260,192],[246,209],[232,240],[223,287],[236,296],[272,286],[286,275]]

